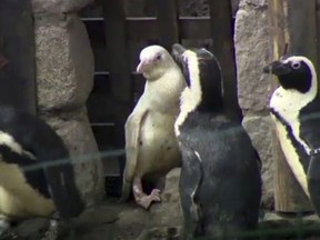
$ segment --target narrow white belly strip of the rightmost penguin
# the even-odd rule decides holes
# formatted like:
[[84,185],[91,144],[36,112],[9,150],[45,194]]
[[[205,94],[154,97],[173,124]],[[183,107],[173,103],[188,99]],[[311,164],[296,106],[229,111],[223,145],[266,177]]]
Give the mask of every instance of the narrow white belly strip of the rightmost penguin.
[[279,122],[273,116],[272,116],[272,119],[276,123],[278,138],[281,144],[281,149],[286,156],[287,162],[289,167],[291,168],[291,171],[296,176],[298,182],[302,187],[303,191],[306,192],[306,194],[310,197],[306,172],[303,170],[302,164],[300,163],[299,154],[297,153],[297,150],[294,149],[294,147],[292,146],[288,137],[286,127],[281,122]]

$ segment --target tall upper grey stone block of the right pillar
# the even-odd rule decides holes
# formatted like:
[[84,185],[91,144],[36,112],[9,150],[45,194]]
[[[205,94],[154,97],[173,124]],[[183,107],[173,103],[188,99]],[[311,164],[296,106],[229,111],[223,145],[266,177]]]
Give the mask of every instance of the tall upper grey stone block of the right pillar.
[[240,1],[234,28],[239,104],[243,111],[262,111],[272,83],[272,76],[262,73],[271,60],[267,0]]

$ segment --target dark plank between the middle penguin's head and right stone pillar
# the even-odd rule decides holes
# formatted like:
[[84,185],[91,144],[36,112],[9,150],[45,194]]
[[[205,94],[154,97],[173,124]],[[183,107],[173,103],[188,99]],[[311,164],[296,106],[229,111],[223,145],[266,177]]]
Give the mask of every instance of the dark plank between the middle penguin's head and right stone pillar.
[[212,52],[220,61],[223,77],[223,101],[226,113],[241,121],[242,113],[238,103],[237,70],[233,48],[232,8],[230,0],[209,0]]

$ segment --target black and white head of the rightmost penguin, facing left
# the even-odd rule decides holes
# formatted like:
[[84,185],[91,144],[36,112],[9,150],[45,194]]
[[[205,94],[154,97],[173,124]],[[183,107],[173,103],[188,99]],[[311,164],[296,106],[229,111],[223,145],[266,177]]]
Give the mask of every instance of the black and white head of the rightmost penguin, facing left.
[[300,93],[317,91],[317,73],[313,63],[303,56],[283,56],[263,68],[264,73],[278,77],[286,90]]

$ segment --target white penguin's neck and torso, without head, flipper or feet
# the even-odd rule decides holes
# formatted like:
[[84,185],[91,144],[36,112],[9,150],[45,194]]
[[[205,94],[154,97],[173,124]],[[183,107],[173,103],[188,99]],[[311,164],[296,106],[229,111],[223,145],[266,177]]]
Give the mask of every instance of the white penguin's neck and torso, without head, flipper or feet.
[[172,69],[161,79],[147,82],[137,104],[138,109],[148,111],[139,132],[140,146],[136,172],[140,177],[163,176],[180,166],[180,152],[173,130],[182,88],[181,82],[177,81],[179,78],[176,69]]

